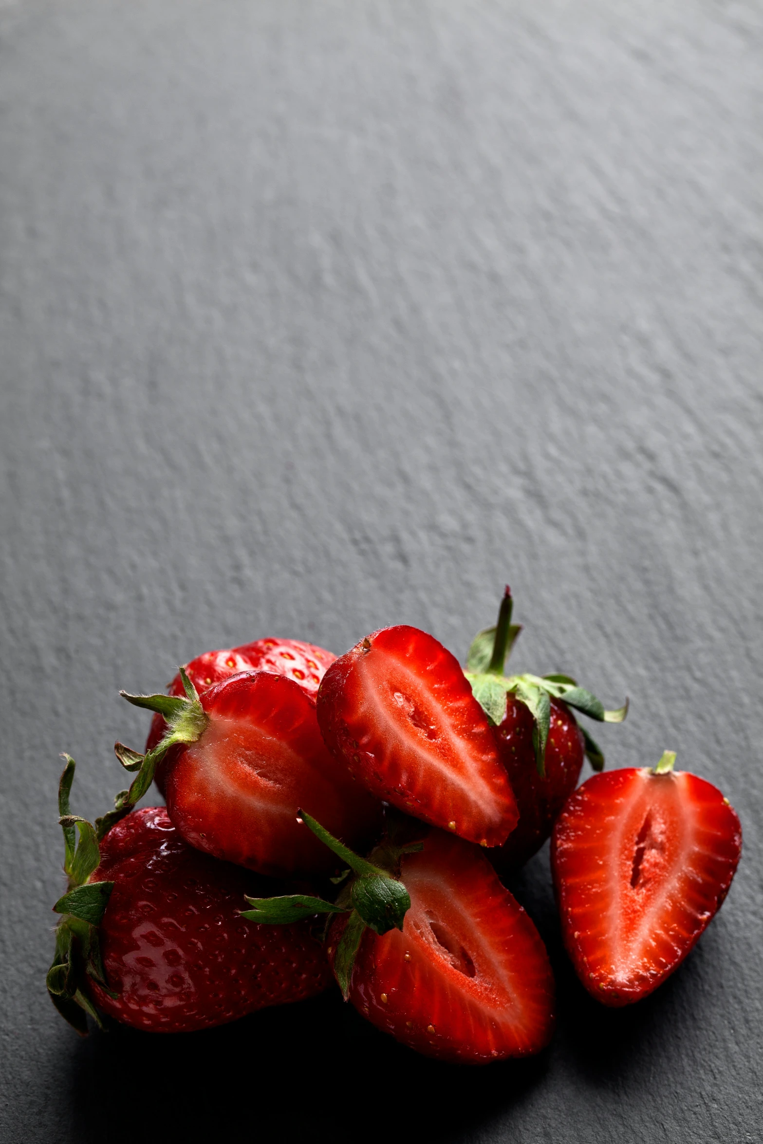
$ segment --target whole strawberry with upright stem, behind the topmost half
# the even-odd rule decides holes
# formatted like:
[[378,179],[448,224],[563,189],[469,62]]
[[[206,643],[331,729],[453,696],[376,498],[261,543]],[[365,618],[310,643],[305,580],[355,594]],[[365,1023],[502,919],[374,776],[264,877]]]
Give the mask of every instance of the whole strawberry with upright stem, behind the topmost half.
[[502,847],[491,850],[495,868],[506,873],[525,863],[551,833],[554,821],[574,791],[588,755],[596,770],[604,756],[578,726],[571,707],[599,722],[620,723],[628,701],[604,710],[590,691],[569,675],[504,675],[504,664],[522,628],[511,623],[507,587],[494,628],[480,631],[469,651],[467,678],[493,726],[519,811],[517,827]]

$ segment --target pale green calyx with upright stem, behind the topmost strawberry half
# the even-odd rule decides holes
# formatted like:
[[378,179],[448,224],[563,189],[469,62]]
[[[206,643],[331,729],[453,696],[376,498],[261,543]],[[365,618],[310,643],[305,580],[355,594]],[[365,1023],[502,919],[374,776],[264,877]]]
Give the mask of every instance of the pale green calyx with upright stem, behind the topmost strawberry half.
[[[628,714],[628,700],[615,710],[605,710],[604,705],[590,691],[578,685],[570,675],[506,675],[506,660],[511,652],[522,627],[511,623],[514,601],[506,586],[495,627],[477,633],[464,675],[471,684],[475,699],[487,718],[499,726],[506,716],[507,694],[511,692],[530,708],[533,717],[533,747],[538,773],[546,773],[546,744],[551,722],[551,699],[562,699],[582,715],[599,723],[622,723]],[[585,728],[580,729],[585,750],[596,771],[604,766],[604,755]]]

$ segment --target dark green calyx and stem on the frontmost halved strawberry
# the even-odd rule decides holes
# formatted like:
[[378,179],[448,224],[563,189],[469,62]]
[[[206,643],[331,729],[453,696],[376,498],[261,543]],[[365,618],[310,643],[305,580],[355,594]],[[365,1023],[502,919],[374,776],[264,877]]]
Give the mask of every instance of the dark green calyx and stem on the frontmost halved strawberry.
[[[270,925],[285,925],[316,914],[327,914],[328,923],[333,914],[349,914],[334,955],[334,976],[347,1001],[352,967],[366,928],[379,935],[403,929],[411,897],[400,881],[400,860],[404,855],[422,850],[423,842],[411,837],[411,819],[390,811],[387,837],[368,858],[361,858],[305,811],[297,811],[297,821],[309,827],[348,866],[340,877],[332,879],[334,883],[343,883],[336,900],[327,901],[304,893],[279,898],[246,897],[252,908],[240,913],[248,921]],[[414,832],[422,829],[421,824],[413,828]],[[353,876],[347,879],[348,873]]]

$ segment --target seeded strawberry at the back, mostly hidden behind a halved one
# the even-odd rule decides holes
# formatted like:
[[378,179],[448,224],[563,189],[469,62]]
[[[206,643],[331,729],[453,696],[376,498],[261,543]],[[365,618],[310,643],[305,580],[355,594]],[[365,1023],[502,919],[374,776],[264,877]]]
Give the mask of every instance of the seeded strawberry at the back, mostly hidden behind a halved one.
[[[221,651],[205,651],[185,665],[185,674],[199,694],[202,694],[213,683],[220,683],[239,672],[272,672],[275,675],[286,675],[300,684],[304,693],[315,702],[318,685],[324,673],[336,657],[325,648],[304,643],[302,639],[255,639],[240,648],[223,648]],[[183,696],[183,681],[180,673],[168,685],[170,696]],[[145,741],[146,754],[161,741],[167,724],[159,713],[151,720],[149,738]],[[161,793],[165,793],[164,764],[158,766],[154,781]]]

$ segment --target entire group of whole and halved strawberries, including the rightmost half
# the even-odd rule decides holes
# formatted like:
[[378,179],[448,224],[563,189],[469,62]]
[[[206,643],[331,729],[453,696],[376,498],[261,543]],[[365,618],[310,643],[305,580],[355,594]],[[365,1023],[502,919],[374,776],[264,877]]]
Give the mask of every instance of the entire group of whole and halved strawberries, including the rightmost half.
[[[153,712],[134,778],[94,824],[58,792],[67,892],[47,985],[87,1016],[177,1032],[335,980],[419,1052],[483,1063],[554,1028],[543,943],[501,882],[551,835],[566,950],[597,1000],[651,993],[721,906],[739,819],[709,782],[602,773],[574,712],[621,722],[566,675],[507,675],[507,588],[463,670],[397,626],[344,656],[259,639],[199,656]],[[599,772],[575,789],[583,756]],[[136,810],[156,781],[164,807]]]

